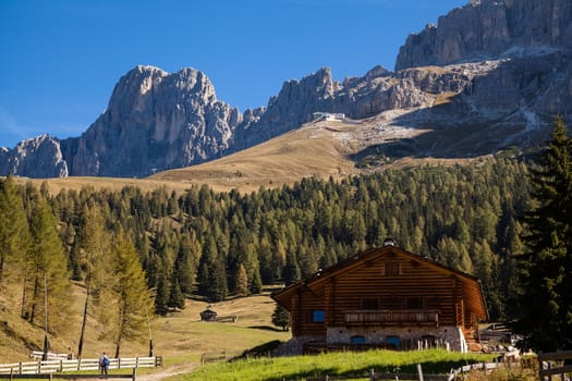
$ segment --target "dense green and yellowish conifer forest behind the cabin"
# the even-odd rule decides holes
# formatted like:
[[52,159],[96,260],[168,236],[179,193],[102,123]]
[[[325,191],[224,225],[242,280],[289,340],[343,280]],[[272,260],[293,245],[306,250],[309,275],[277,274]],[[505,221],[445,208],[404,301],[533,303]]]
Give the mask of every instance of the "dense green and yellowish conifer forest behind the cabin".
[[[52,274],[52,284],[66,276],[85,282],[87,308],[101,293],[119,293],[121,285],[105,274],[129,274],[118,256],[136,253],[161,314],[183,308],[188,294],[216,302],[259,293],[263,284],[289,284],[392,237],[400,247],[478,276],[491,318],[502,319],[515,286],[512,255],[523,250],[520,218],[530,188],[526,165],[512,159],[386,170],[342,182],[308,177],[246,195],[206,185],[183,194],[84,187],[50,195],[45,186],[15,186],[8,177],[1,207],[15,214],[9,225],[17,234],[3,232],[0,274],[22,278],[22,315],[33,321],[41,309],[34,303],[41,297],[40,274]],[[122,254],[112,267],[115,251]],[[63,294],[53,303],[64,303]]]

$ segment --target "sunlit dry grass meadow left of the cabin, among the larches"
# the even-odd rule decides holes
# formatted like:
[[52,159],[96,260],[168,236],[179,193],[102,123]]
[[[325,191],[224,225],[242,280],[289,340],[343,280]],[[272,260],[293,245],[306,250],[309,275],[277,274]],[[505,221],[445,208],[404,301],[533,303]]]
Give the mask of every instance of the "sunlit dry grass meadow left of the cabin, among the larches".
[[[31,361],[32,351],[41,351],[44,344],[42,327],[32,325],[20,318],[17,300],[20,287],[13,284],[0,293],[0,358],[2,364]],[[85,292],[75,284],[72,311],[68,329],[59,335],[49,335],[52,352],[73,353],[77,351],[81,332]],[[207,307],[219,316],[238,316],[233,323],[199,321],[199,312]],[[271,324],[275,303],[268,293],[224,300],[209,305],[205,302],[187,299],[186,308],[157,317],[151,321],[151,335],[156,356],[163,356],[169,364],[196,364],[204,352],[228,351],[240,354],[247,348],[273,340],[285,341],[289,332],[281,332]],[[41,324],[40,324],[41,325]],[[83,358],[97,358],[101,352],[114,354],[114,345],[109,337],[100,337],[99,327],[94,318],[88,318]],[[147,356],[149,337],[125,342],[121,346],[122,357]]]

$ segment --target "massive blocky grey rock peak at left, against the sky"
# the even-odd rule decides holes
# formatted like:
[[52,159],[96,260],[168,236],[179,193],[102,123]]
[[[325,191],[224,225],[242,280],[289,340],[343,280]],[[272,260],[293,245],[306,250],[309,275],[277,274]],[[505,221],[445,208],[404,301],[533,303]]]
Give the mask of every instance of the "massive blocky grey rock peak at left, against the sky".
[[205,74],[137,66],[82,137],[64,143],[72,175],[143,176],[220,156],[242,122]]

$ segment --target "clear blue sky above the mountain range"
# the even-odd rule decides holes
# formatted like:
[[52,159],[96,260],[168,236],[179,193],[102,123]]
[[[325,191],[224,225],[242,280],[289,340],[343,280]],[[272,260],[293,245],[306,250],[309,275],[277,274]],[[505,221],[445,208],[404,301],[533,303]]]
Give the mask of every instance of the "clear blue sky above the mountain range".
[[241,111],[322,66],[393,69],[410,33],[468,0],[0,0],[0,146],[80,136],[137,64],[195,67]]

